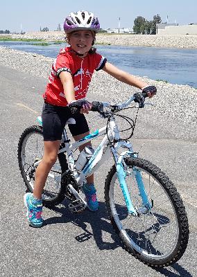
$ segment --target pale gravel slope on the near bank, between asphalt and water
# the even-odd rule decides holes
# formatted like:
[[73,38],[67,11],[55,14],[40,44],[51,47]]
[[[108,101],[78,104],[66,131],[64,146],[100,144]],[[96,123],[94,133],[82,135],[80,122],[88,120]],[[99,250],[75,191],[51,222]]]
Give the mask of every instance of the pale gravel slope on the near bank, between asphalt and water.
[[[0,47],[0,64],[46,78],[46,80],[52,62],[53,59],[50,57]],[[177,138],[196,141],[197,89],[188,85],[157,82],[142,76],[139,78],[157,87],[157,97],[151,100],[154,102],[155,108],[151,109],[149,106],[146,108],[147,112],[148,109],[151,109],[151,114],[155,115],[155,120],[157,120],[157,116],[160,116],[164,124],[166,120],[169,120],[169,124],[170,122],[173,123],[174,120],[179,120],[182,125],[182,136],[177,135]],[[93,75],[89,87],[89,95],[96,93],[99,99],[107,98],[112,102],[122,102],[134,92],[136,92],[136,88],[115,80],[104,71],[96,72]]]

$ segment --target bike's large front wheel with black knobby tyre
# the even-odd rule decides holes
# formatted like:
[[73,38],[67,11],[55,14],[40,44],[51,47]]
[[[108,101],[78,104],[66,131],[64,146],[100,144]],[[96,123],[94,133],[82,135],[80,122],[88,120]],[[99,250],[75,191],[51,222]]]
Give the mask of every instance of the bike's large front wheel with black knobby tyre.
[[[189,239],[182,199],[169,178],[153,163],[139,158],[124,161],[126,184],[138,213],[137,216],[128,213],[113,166],[105,180],[105,202],[112,226],[126,250],[146,265],[172,265],[182,257]],[[133,168],[141,172],[151,210],[142,204]]]

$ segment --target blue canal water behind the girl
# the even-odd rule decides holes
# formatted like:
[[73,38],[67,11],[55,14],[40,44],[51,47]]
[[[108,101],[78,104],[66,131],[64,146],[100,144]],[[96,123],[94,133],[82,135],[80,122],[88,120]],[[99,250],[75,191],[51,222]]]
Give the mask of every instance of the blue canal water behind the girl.
[[[53,42],[49,46],[35,45],[33,42],[0,42],[0,46],[46,57],[56,57],[65,45]],[[96,48],[107,57],[108,62],[133,75],[197,88],[197,49],[112,45],[96,45]]]

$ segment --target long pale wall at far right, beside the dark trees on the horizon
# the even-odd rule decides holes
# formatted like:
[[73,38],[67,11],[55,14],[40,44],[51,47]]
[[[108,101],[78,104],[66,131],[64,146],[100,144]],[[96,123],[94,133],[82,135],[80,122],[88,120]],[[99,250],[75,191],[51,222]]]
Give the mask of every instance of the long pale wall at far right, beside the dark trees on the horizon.
[[182,26],[166,26],[164,29],[157,29],[157,35],[197,35],[197,24]]

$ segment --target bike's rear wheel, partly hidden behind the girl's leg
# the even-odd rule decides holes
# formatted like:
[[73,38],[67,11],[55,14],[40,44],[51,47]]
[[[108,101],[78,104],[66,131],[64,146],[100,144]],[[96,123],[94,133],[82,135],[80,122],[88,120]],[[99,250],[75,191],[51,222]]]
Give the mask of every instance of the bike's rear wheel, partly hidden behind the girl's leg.
[[[43,153],[42,127],[37,125],[28,127],[20,137],[18,144],[19,169],[28,192],[33,193],[35,162],[42,159]],[[57,159],[57,162],[49,172],[42,194],[44,206],[58,205],[65,198],[65,191],[61,184],[62,168],[63,166],[65,167],[64,162],[66,163],[66,157],[61,156],[61,159]]]

